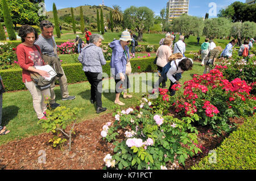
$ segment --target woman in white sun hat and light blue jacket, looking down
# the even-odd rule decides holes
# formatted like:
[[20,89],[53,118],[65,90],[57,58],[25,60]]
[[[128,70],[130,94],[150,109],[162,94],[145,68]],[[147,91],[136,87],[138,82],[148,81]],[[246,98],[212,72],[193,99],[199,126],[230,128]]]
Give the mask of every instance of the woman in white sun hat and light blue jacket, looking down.
[[[124,90],[123,98],[131,98],[132,95],[127,94],[127,89],[130,88],[129,78],[125,74],[126,64],[130,61],[129,56],[129,43],[131,42],[131,36],[128,31],[123,31],[119,40],[114,40],[110,43],[112,48],[112,58],[110,61],[110,69],[115,78],[115,104],[120,106],[125,105],[119,100],[121,92]],[[122,89],[120,86],[122,85]]]

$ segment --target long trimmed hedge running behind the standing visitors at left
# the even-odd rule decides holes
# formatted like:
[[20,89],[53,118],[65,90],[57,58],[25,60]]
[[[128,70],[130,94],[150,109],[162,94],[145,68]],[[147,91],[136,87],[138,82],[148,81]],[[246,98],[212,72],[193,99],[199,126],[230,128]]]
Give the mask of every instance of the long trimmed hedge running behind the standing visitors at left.
[[[154,57],[148,58],[133,58],[131,62],[131,68],[133,73],[149,72],[157,70],[154,62]],[[138,69],[140,66],[140,69]],[[82,65],[80,63],[75,64],[63,64],[62,65],[65,75],[67,76],[68,83],[76,83],[87,81],[84,71],[82,71]],[[102,66],[103,72],[107,73],[110,77],[110,61]],[[22,82],[22,69],[8,69],[0,70],[0,74],[3,78],[3,83],[6,87],[6,91],[25,90],[26,86]]]

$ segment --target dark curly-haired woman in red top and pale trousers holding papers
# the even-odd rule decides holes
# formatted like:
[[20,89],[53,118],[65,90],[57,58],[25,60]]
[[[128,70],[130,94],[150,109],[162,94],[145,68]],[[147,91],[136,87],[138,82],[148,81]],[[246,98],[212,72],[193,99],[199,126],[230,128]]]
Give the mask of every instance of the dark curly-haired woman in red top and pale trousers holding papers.
[[[33,107],[38,116],[38,119],[46,119],[47,104],[44,98],[50,97],[49,89],[39,90],[36,84],[32,81],[30,72],[34,71],[43,77],[49,77],[47,71],[35,69],[34,66],[43,66],[44,61],[41,57],[40,48],[34,45],[38,38],[38,33],[35,29],[28,25],[23,25],[19,29],[19,36],[22,43],[16,48],[16,54],[20,68],[22,68],[22,82],[24,82],[27,89],[30,91],[33,99]],[[36,48],[37,46],[37,48]]]

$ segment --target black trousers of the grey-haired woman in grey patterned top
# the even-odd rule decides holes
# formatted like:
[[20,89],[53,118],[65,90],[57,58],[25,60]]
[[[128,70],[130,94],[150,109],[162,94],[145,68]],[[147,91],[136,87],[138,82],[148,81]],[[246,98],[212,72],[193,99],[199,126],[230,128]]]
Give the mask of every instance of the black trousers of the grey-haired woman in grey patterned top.
[[96,100],[96,107],[102,107],[101,92],[98,91],[98,85],[102,88],[102,74],[85,71],[85,76],[90,83],[90,100]]

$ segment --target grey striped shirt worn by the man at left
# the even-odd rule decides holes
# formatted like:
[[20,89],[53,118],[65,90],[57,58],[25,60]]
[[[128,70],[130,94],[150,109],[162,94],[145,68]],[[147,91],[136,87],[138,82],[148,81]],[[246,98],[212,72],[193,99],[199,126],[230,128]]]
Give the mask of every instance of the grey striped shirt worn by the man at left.
[[42,54],[48,54],[50,57],[54,57],[55,53],[53,50],[53,43],[55,44],[57,51],[57,45],[55,43],[54,37],[52,36],[51,38],[46,39],[42,36],[42,34],[40,34],[34,44],[40,47]]

